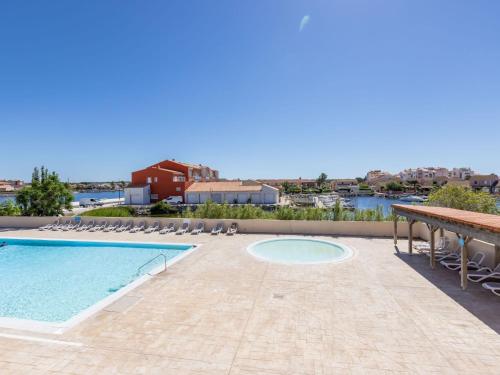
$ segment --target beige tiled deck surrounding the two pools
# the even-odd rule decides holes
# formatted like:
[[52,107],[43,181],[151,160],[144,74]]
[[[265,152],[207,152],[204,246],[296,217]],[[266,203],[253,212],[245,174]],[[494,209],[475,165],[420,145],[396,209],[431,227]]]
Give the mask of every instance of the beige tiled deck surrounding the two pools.
[[500,372],[500,298],[478,285],[461,291],[458,274],[397,254],[392,240],[336,238],[355,250],[352,259],[284,266],[245,250],[269,235],[0,235],[203,243],[133,290],[125,310],[57,336],[0,329],[83,344],[0,337],[2,374]]

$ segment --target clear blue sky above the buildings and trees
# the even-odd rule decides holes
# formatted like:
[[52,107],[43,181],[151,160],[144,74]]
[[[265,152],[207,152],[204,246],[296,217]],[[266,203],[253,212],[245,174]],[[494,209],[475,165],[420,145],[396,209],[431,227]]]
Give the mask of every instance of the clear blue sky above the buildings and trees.
[[3,1],[0,178],[500,173],[500,2]]

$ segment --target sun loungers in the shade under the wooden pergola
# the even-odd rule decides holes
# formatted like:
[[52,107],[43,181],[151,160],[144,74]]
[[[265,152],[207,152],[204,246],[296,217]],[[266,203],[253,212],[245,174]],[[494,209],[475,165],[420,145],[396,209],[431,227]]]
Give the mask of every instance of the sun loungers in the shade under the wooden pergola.
[[[452,271],[462,272],[462,262],[460,249],[449,250],[450,241],[446,237],[441,237],[436,243],[434,255],[436,261],[442,266]],[[418,252],[430,256],[430,244],[424,243],[415,245]],[[467,279],[474,283],[482,283],[483,288],[490,290],[500,296],[500,263],[494,269],[484,266],[486,256],[482,252],[477,252],[467,260]],[[494,280],[494,281],[491,281]],[[498,281],[495,281],[498,280]]]

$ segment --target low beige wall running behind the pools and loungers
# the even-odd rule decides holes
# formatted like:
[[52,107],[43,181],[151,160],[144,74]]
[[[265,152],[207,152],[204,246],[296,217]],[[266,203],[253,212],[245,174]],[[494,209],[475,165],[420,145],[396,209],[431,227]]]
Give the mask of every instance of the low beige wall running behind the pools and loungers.
[[[61,220],[69,220],[63,217]],[[0,216],[0,227],[3,228],[38,228],[42,225],[53,223],[55,217],[23,217],[23,216]],[[177,225],[187,219],[181,218],[106,218],[106,217],[82,217],[83,222],[95,220],[96,222],[121,220],[126,222],[132,220],[134,223],[145,221],[147,225],[155,221],[160,224],[176,223]],[[232,220],[232,219],[189,219],[193,225],[203,221],[205,230],[211,230],[217,223],[223,222],[225,227],[231,223],[238,223],[242,233],[269,233],[269,234],[304,234],[304,235],[343,235],[343,236],[370,236],[391,237],[392,222],[366,222],[366,221],[305,221],[305,220]],[[408,235],[407,226],[401,226],[398,231],[401,237]]]

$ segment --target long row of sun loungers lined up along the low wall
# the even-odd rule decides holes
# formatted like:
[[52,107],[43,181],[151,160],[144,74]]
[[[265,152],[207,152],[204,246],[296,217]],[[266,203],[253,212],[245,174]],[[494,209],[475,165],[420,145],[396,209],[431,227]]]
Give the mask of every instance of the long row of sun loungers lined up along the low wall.
[[[155,221],[153,224],[146,226],[146,222],[142,221],[136,225],[134,225],[133,221],[129,220],[125,223],[122,223],[121,220],[118,220],[114,223],[110,223],[108,221],[102,221],[100,223],[97,223],[95,220],[90,220],[87,223],[83,222],[75,222],[72,220],[66,220],[65,222],[61,222],[61,220],[57,220],[53,224],[47,224],[44,226],[41,226],[38,228],[41,231],[69,231],[69,230],[74,230],[77,232],[83,232],[83,231],[88,231],[88,232],[130,232],[130,233],[138,233],[138,232],[144,232],[144,233],[153,233],[153,232],[158,232],[159,234],[168,234],[168,233],[175,233],[175,234],[186,234],[186,233],[191,233],[191,234],[200,234],[205,231],[205,223],[199,222],[197,223],[194,228],[191,229],[191,224],[189,222],[184,222],[180,227],[176,227],[175,223],[169,223],[168,225],[161,227],[159,221]],[[218,223],[215,227],[212,228],[210,233],[212,235],[218,235],[224,231],[224,223]],[[238,232],[238,224],[232,223],[226,231],[227,235],[233,235]]]

